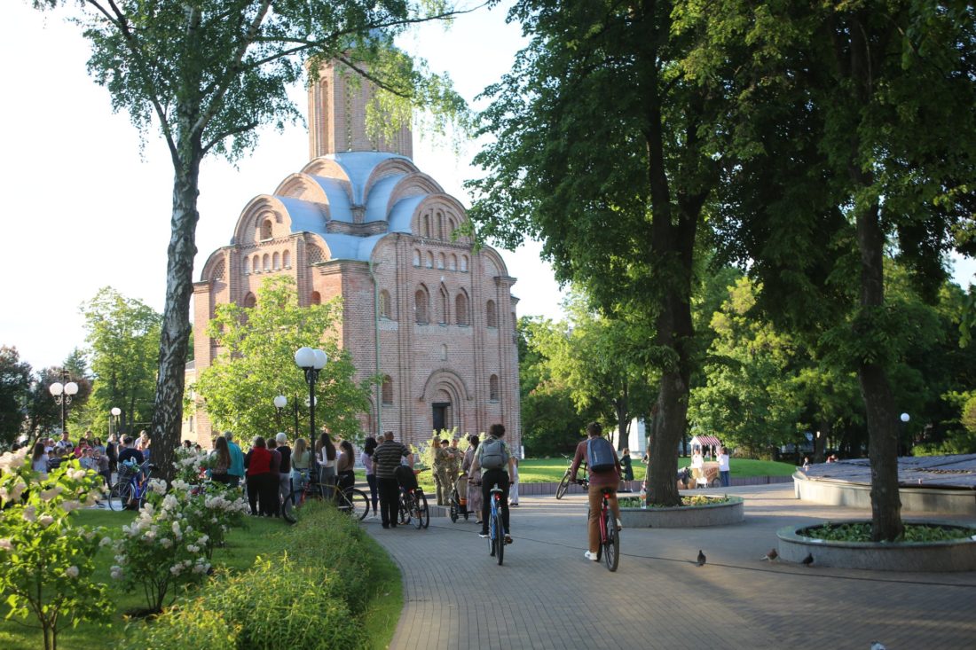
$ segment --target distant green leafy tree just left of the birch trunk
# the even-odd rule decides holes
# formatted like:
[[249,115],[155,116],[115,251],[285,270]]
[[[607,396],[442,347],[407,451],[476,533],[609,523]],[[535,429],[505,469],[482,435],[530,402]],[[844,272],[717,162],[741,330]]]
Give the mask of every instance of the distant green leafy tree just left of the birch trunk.
[[102,287],[81,313],[95,374],[93,426],[106,430],[111,410],[118,408],[120,430],[131,433],[134,423],[152,419],[162,317],[111,287]]

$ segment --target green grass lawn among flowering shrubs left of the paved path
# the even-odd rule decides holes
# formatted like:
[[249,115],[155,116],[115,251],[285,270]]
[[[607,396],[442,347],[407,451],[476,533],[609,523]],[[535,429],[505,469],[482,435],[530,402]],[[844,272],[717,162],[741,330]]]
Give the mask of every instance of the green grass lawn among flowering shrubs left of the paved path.
[[[78,521],[90,526],[121,527],[135,518],[135,512],[113,512],[111,510],[82,510],[75,514]],[[246,527],[233,529],[227,534],[225,548],[214,552],[214,564],[245,570],[252,566],[255,557],[279,555],[288,548],[290,528],[281,519],[247,517]],[[382,567],[380,579],[373,585],[374,593],[367,605],[370,647],[385,648],[392,638],[396,622],[403,606],[403,593],[400,574],[396,565],[372,538],[366,539],[365,551],[375,556],[374,566]],[[109,595],[115,601],[115,609],[105,612],[106,626],[81,624],[77,628],[66,628],[58,635],[60,650],[89,650],[90,648],[110,648],[117,644],[125,631],[124,613],[131,609],[144,607],[142,592],[125,593],[118,589],[108,575],[113,563],[111,550],[102,548],[96,557],[96,582],[108,585]],[[0,618],[6,616],[7,608],[0,604]],[[27,621],[31,623],[31,621]],[[13,620],[0,620],[0,648],[4,650],[36,650],[43,648],[44,641],[40,630],[23,627]],[[191,650],[191,649],[187,649]]]

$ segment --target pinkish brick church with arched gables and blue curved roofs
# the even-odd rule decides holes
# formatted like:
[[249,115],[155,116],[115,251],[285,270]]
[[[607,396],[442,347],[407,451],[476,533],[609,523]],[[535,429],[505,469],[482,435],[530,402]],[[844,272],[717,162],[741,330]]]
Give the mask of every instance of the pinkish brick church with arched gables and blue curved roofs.
[[[475,433],[501,422],[518,449],[515,278],[495,250],[458,232],[465,208],[414,165],[409,129],[368,136],[371,92],[322,68],[308,91],[310,162],[244,207],[230,245],[194,283],[187,385],[217,356],[206,335],[216,305],[254,305],[268,274],[287,273],[301,305],[342,296],[340,345],[357,379],[385,377],[364,432],[418,443],[435,427]],[[206,412],[185,416],[184,438],[209,447]]]

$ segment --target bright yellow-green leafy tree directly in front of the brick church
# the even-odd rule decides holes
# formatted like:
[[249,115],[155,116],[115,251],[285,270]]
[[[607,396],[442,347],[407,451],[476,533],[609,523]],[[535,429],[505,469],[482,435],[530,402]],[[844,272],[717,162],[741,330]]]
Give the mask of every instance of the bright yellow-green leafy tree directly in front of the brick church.
[[194,386],[214,426],[243,438],[279,430],[275,395],[291,400],[308,394],[302,373],[282,372],[295,367],[295,350],[307,345],[329,357],[316,385],[316,422],[344,438],[359,439],[373,382],[354,381],[355,366],[335,334],[341,318],[338,299],[300,307],[294,280],[283,276],[264,281],[252,308],[219,305],[210,336],[220,353]]

